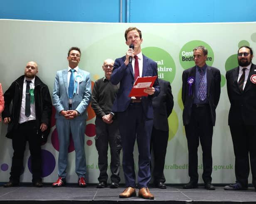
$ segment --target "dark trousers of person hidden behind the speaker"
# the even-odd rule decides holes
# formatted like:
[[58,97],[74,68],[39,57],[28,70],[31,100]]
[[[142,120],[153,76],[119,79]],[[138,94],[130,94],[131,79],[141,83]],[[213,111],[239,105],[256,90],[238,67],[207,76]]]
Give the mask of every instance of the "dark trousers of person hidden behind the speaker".
[[153,178],[154,183],[165,182],[164,166],[168,143],[169,131],[155,129],[151,135],[151,153],[153,153]]

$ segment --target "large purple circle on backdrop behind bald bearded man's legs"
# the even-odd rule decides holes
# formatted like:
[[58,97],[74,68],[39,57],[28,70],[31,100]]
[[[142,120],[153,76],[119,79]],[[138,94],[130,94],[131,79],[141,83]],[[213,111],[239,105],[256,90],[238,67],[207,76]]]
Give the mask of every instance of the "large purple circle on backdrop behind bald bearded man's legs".
[[[49,176],[55,168],[56,162],[54,155],[50,153],[49,151],[42,149],[41,150],[41,155],[42,155],[42,177],[47,177]],[[32,167],[31,167],[31,155],[30,158],[28,158],[27,166],[32,173]]]

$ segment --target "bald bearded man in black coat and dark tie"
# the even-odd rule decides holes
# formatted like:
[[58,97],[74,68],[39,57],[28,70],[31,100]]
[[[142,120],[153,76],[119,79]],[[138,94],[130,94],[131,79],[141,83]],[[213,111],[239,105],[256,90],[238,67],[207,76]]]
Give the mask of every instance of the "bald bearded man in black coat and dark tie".
[[4,187],[20,184],[27,141],[32,163],[32,183],[35,187],[42,187],[41,144],[47,141],[50,132],[52,100],[47,85],[36,76],[37,73],[37,63],[28,62],[24,75],[17,78],[4,94],[2,118],[8,124],[6,137],[12,139],[13,148],[10,181]]

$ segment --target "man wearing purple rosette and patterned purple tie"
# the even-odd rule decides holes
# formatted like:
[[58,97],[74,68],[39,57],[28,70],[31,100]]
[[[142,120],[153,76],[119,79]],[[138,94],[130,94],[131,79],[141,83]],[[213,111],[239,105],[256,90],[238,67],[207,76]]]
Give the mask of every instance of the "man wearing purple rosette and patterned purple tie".
[[190,182],[185,189],[197,188],[199,140],[203,151],[204,187],[214,190],[212,185],[212,134],[215,125],[215,109],[220,96],[220,71],[206,64],[207,49],[204,46],[194,48],[196,66],[183,71],[182,102],[183,124],[188,146],[188,174]]

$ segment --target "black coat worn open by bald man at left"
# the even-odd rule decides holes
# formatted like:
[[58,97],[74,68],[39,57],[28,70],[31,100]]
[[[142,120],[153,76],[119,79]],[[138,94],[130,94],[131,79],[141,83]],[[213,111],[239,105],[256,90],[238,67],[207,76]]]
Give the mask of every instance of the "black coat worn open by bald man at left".
[[[11,118],[10,123],[8,123],[7,138],[13,138],[19,124],[24,77],[25,75],[22,75],[17,78],[4,94],[5,109],[2,112],[2,118]],[[42,138],[43,142],[46,142],[51,131],[52,99],[47,85],[37,76],[34,80],[34,104],[38,136]],[[47,124],[47,130],[43,132],[40,130],[42,123]]]

